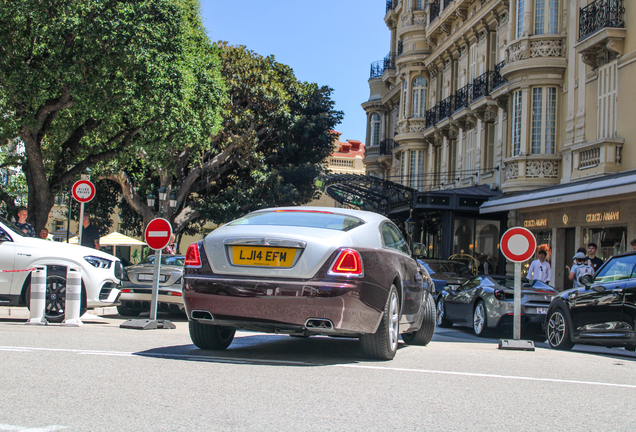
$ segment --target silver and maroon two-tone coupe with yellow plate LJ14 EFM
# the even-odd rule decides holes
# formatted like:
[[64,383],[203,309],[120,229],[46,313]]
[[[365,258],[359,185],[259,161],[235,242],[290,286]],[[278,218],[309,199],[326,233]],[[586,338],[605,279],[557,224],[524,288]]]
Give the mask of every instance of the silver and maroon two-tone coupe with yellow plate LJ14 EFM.
[[360,338],[371,358],[398,337],[426,345],[432,282],[399,229],[376,213],[324,207],[260,210],[192,244],[183,296],[190,337],[225,349],[236,330]]

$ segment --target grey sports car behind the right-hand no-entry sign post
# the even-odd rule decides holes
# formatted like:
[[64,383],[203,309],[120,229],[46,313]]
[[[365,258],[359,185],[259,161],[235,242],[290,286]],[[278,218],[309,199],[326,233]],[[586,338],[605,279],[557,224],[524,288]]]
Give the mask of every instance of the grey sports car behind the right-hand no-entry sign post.
[[[521,324],[541,327],[556,291],[543,282],[521,279]],[[458,288],[446,286],[437,298],[437,325],[472,327],[477,336],[488,330],[512,325],[514,316],[514,278],[512,276],[473,276]]]

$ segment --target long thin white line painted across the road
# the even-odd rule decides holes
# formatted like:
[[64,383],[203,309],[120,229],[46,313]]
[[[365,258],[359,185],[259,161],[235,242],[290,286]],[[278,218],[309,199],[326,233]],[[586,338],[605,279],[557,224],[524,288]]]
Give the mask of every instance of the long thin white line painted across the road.
[[[553,382],[560,384],[581,384],[581,385],[594,385],[604,387],[620,387],[636,389],[636,385],[632,384],[614,384],[604,383],[597,381],[578,381],[578,380],[566,380],[557,378],[534,378],[524,377],[516,375],[496,375],[496,374],[484,374],[484,373],[472,373],[472,372],[453,372],[453,371],[436,371],[427,369],[408,369],[408,368],[392,368],[382,366],[365,366],[360,364],[341,364],[341,365],[328,365],[325,363],[311,363],[301,362],[293,360],[265,360],[265,359],[245,359],[234,357],[217,357],[217,356],[203,356],[203,355],[190,355],[190,354],[166,354],[166,353],[145,353],[145,352],[123,352],[123,351],[94,351],[94,350],[75,350],[65,348],[33,348],[33,347],[10,347],[0,346],[0,351],[53,351],[53,352],[67,352],[80,355],[101,355],[101,356],[121,356],[121,357],[152,357],[152,358],[172,358],[179,360],[190,361],[202,361],[210,363],[231,363],[231,364],[276,364],[276,365],[289,365],[289,366],[332,366],[352,369],[375,369],[395,372],[417,372],[424,374],[438,374],[438,375],[455,375],[465,377],[477,377],[477,378],[495,378],[495,379],[509,379],[520,381],[537,381],[537,382]],[[0,430],[2,430],[0,428]]]

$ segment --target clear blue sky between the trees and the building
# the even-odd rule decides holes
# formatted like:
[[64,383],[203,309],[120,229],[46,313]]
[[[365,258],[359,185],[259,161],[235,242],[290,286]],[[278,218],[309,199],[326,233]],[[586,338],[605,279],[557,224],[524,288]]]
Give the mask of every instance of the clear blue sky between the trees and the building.
[[331,87],[341,140],[365,140],[369,68],[389,52],[384,0],[200,0],[212,41],[245,45]]

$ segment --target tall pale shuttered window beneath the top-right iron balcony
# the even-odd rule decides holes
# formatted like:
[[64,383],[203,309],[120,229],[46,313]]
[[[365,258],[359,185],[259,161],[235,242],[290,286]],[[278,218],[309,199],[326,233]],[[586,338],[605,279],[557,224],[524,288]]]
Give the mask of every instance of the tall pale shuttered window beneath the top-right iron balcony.
[[597,138],[616,137],[617,71],[617,60],[598,68]]

